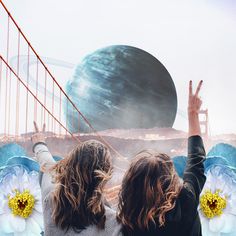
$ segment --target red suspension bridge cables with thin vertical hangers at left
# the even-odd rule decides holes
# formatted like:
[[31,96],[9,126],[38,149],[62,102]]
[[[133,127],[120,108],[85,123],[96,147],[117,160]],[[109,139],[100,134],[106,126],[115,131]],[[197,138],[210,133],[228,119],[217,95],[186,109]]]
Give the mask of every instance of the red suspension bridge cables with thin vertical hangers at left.
[[[86,133],[96,135],[116,157],[123,159],[66,94],[3,2],[0,2],[0,22],[2,139],[16,142],[22,134],[27,138],[26,134],[33,132],[33,121],[36,121],[41,126],[46,124],[47,134],[71,136],[80,142],[79,127],[83,125]],[[22,67],[24,70],[20,69]]]

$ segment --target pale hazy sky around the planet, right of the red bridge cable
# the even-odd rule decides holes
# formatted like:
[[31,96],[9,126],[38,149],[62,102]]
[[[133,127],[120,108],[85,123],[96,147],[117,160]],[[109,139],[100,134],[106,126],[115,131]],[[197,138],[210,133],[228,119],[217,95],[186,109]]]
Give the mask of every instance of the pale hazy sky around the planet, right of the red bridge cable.
[[[204,80],[212,134],[236,133],[236,2],[233,0],[5,0],[42,57],[73,64],[113,44],[141,48],[160,60],[176,85],[183,118],[187,86]],[[50,67],[50,66],[49,66]],[[65,83],[73,70],[52,67]],[[63,76],[62,76],[63,75]],[[154,108],[155,109],[155,108]]]

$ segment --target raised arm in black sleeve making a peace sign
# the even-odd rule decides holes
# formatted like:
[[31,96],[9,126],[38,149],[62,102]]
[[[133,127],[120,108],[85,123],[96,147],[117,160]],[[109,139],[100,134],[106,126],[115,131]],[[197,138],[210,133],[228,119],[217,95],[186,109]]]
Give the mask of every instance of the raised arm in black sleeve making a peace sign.
[[195,94],[192,91],[192,81],[189,83],[189,138],[188,138],[188,158],[184,171],[184,185],[194,194],[195,199],[199,200],[199,195],[204,186],[206,177],[204,175],[205,149],[201,138],[201,128],[199,122],[199,111],[202,101],[198,94],[202,86],[202,81],[198,84]]

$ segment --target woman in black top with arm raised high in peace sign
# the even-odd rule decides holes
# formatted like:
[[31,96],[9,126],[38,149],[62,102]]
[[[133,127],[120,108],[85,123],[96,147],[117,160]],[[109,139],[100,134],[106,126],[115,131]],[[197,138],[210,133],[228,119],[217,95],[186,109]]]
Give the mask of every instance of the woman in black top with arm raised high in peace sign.
[[205,150],[201,138],[198,97],[189,84],[188,160],[183,181],[171,158],[145,150],[138,153],[124,176],[117,219],[124,236],[200,236],[199,195],[205,183]]

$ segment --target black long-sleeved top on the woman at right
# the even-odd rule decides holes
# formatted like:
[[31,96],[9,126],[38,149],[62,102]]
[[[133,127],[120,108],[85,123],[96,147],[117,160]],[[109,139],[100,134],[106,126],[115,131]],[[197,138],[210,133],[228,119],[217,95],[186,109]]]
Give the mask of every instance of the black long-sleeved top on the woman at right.
[[[183,176],[183,187],[175,207],[166,214],[165,226],[158,224],[148,230],[135,229],[132,236],[201,236],[198,215],[199,195],[206,177],[204,175],[205,149],[200,136],[188,139],[188,158]],[[126,236],[126,235],[125,235]]]

